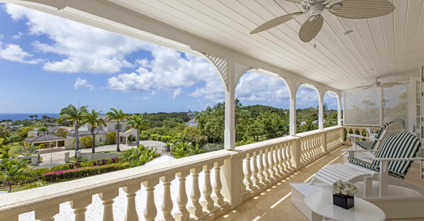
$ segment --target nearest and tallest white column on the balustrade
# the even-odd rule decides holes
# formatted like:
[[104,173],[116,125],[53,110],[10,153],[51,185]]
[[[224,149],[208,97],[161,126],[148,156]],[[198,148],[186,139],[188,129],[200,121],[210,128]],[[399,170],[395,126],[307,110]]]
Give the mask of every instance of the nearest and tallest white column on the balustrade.
[[235,94],[235,69],[234,61],[228,61],[227,88],[225,90],[225,128],[224,128],[224,148],[234,149],[236,130],[234,124],[234,94]]

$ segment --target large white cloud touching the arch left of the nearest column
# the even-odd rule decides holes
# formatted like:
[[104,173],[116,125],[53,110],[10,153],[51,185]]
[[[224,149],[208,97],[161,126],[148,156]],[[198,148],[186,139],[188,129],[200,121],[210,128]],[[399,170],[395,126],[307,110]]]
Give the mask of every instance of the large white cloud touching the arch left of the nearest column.
[[[204,82],[190,95],[221,101],[223,87],[215,69],[205,59],[155,46],[150,49],[153,60],[137,60],[136,72],[120,74],[108,79],[108,88],[119,91],[173,91],[173,98],[182,94],[182,87]],[[152,95],[153,95],[152,94]]]

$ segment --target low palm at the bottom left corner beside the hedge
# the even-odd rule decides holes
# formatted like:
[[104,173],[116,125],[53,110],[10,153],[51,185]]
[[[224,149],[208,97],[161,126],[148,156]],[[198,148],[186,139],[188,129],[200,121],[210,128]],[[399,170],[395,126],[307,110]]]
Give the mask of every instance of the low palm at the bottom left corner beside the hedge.
[[32,174],[28,172],[26,166],[28,160],[3,160],[0,164],[0,176],[7,180],[9,185],[9,193],[12,192],[12,185],[18,180],[31,177]]

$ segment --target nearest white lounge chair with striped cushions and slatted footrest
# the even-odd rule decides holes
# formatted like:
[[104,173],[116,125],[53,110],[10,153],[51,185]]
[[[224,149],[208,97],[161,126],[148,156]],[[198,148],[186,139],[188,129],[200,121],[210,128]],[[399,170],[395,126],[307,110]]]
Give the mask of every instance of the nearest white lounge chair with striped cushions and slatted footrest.
[[[387,196],[388,185],[397,185],[417,191],[424,196],[424,188],[405,182],[414,160],[424,160],[416,157],[421,149],[420,140],[410,133],[396,133],[388,136],[378,150],[366,150],[376,152],[372,163],[365,162],[356,157],[349,157],[348,163],[332,164],[319,170],[312,181],[316,180],[332,185],[341,179],[348,182],[364,182],[364,198],[371,197],[372,181],[379,181],[379,196]],[[365,150],[348,149],[347,152],[357,152]]]

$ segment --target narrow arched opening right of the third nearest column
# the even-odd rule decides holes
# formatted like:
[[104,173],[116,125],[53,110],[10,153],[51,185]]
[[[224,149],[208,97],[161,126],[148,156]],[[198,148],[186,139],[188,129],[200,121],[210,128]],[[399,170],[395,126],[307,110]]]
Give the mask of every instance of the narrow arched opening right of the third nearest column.
[[338,95],[332,91],[326,91],[323,99],[324,105],[324,128],[338,124]]

